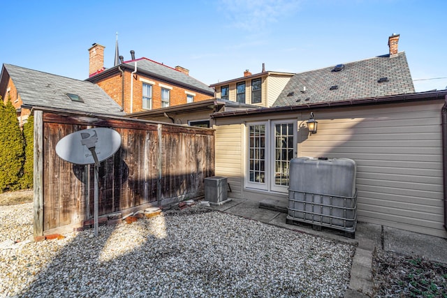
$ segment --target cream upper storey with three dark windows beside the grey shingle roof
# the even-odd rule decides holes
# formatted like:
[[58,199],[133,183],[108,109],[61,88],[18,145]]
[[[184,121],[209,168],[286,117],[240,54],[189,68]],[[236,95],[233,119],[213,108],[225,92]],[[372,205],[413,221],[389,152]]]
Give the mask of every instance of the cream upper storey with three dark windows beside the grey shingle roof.
[[271,107],[294,73],[266,71],[261,73],[244,71],[243,77],[212,84],[214,97],[258,107]]

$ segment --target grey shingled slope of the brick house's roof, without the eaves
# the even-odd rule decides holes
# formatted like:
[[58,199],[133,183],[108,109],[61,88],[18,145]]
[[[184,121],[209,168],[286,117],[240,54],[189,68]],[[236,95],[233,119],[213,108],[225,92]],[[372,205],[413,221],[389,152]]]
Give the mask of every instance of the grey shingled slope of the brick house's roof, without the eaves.
[[[186,84],[191,87],[202,89],[205,92],[214,94],[214,89],[208,87],[207,84],[194,79],[190,75],[186,75],[178,70],[175,70],[174,68],[170,68],[169,66],[159,64],[146,58],[138,59],[137,62],[138,71],[145,71],[157,76],[166,77],[169,80],[173,80],[181,84]],[[126,62],[126,64],[135,67],[135,61]]]

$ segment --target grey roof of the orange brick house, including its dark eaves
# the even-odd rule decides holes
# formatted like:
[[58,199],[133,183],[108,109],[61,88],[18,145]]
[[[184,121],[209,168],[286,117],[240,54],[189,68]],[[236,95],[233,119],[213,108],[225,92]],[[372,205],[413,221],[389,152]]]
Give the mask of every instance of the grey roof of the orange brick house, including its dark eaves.
[[135,59],[132,61],[126,61],[123,64],[114,66],[104,70],[102,73],[98,73],[93,77],[89,77],[86,81],[96,82],[103,77],[107,77],[113,73],[119,73],[118,67],[127,68],[129,70],[135,70],[135,63],[137,64],[137,73],[142,75],[147,75],[149,77],[156,77],[159,80],[164,80],[166,82],[171,82],[173,84],[178,84],[186,89],[200,91],[210,96],[214,96],[214,89],[208,87],[207,84],[194,79],[193,77],[182,73],[175,68],[171,68],[164,64],[160,64],[156,61],[152,61],[147,58]]

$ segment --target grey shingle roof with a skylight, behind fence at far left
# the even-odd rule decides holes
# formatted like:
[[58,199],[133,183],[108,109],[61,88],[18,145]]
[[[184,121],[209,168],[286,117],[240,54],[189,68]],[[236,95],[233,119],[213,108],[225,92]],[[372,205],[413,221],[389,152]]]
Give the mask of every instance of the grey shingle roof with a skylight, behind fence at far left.
[[[124,114],[121,107],[103,89],[91,82],[3,64],[0,77],[2,86],[7,84],[8,76],[13,80],[25,107],[56,107],[82,112]],[[67,94],[78,95],[83,102],[73,101]]]

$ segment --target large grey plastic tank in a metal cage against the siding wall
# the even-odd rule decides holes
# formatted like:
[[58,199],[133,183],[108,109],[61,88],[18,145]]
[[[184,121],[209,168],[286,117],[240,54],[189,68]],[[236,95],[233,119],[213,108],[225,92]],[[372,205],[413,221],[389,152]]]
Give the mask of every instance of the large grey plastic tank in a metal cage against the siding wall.
[[342,230],[357,224],[356,163],[349,158],[293,158],[287,223]]

